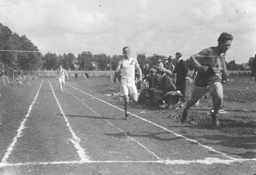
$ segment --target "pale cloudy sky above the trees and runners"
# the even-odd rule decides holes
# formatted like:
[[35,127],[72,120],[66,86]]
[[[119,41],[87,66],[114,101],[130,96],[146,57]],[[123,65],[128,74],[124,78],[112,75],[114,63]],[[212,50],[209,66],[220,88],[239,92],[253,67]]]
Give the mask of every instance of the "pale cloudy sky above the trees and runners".
[[43,54],[132,56],[182,52],[183,59],[234,36],[226,61],[256,53],[255,0],[1,0],[0,23],[26,35]]

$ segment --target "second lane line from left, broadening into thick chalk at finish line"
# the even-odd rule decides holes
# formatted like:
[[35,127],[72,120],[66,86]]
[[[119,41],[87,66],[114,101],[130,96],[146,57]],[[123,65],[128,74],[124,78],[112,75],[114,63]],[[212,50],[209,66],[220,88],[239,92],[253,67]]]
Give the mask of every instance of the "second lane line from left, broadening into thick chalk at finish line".
[[[50,84],[50,81],[49,81],[49,80],[48,80],[48,82],[49,82],[49,84]],[[65,119],[66,125],[68,126],[68,129],[69,129],[69,131],[70,131],[71,134],[72,134],[72,137],[73,137],[73,138],[72,138],[70,141],[74,144],[74,146],[75,146],[75,148],[76,148],[76,150],[77,150],[77,153],[78,153],[78,155],[79,155],[80,160],[81,160],[82,162],[90,162],[91,160],[90,160],[90,158],[85,154],[85,149],[83,149],[83,148],[81,147],[81,145],[79,144],[79,143],[80,143],[80,138],[77,137],[77,136],[75,135],[75,132],[72,130],[72,128],[71,128],[71,126],[70,126],[70,123],[68,122],[68,119],[67,119],[66,115],[64,114],[64,112],[63,112],[61,106],[60,106],[60,103],[59,103],[59,101],[58,101],[58,99],[57,99],[57,97],[56,97],[56,95],[55,95],[55,93],[54,93],[54,91],[53,91],[53,87],[52,87],[51,84],[50,84],[50,87],[51,87],[51,89],[52,89],[53,96],[55,97],[56,102],[57,102],[57,104],[58,104],[58,106],[59,106],[60,112],[62,113],[62,116],[63,116],[64,119]]]

